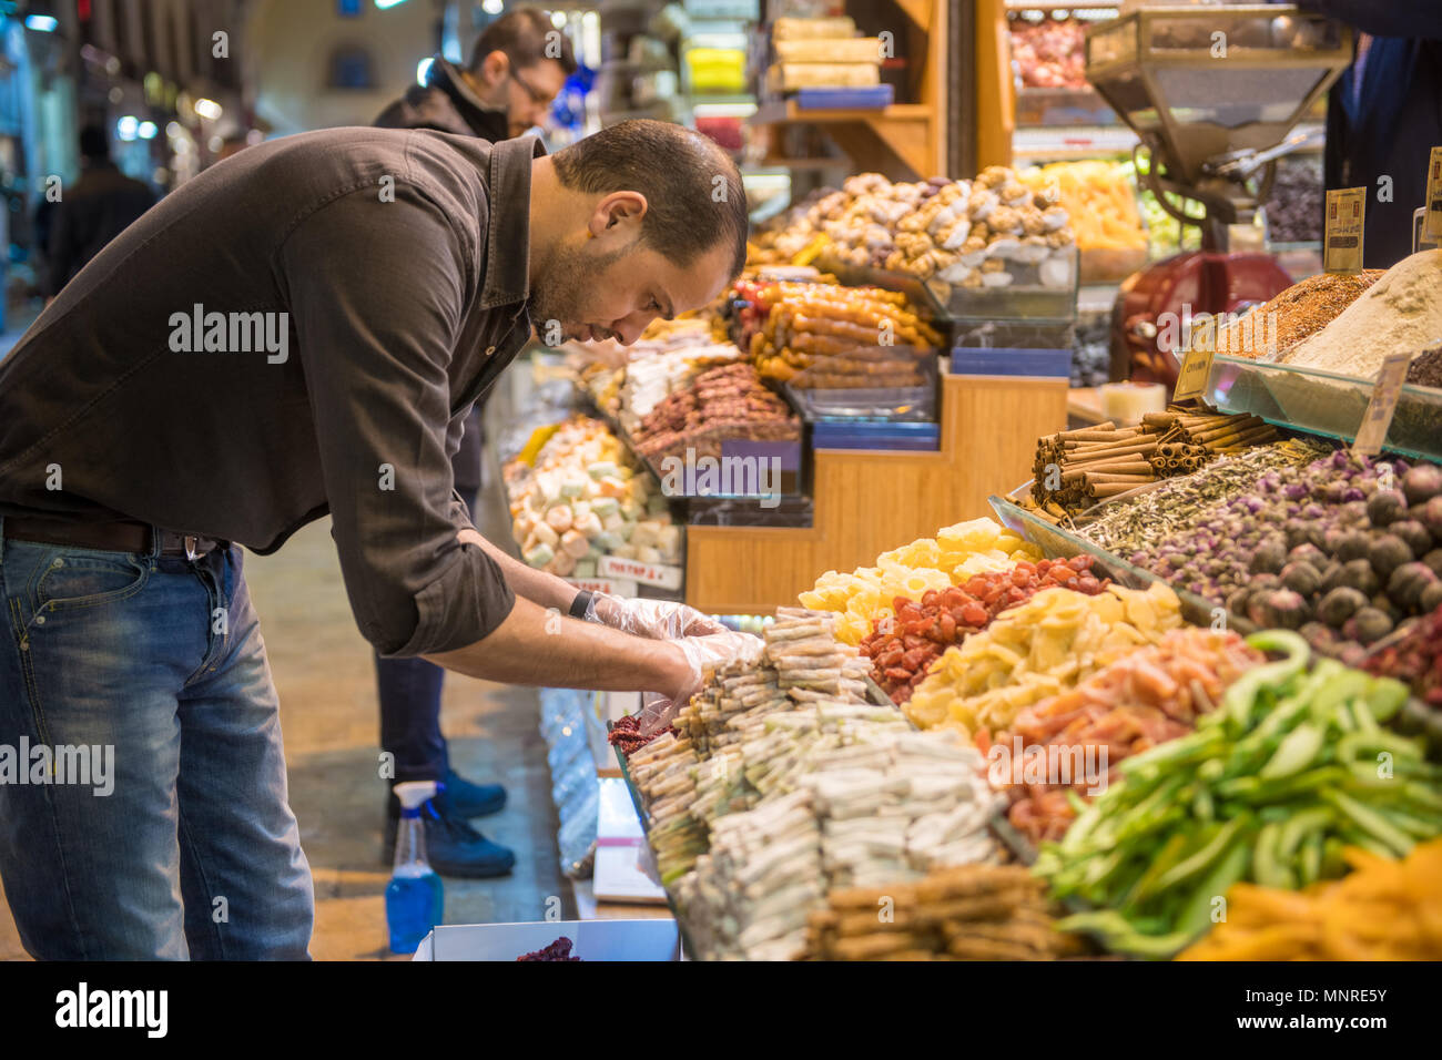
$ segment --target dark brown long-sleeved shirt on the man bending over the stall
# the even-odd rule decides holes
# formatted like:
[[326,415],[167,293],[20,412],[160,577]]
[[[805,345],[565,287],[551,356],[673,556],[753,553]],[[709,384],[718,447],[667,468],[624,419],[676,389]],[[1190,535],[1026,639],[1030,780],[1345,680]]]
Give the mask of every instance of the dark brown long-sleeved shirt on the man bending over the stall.
[[513,596],[456,541],[450,457],[531,335],[539,153],[335,128],[182,185],[0,361],[0,518],[125,516],[264,554],[329,512],[382,653],[486,636]]

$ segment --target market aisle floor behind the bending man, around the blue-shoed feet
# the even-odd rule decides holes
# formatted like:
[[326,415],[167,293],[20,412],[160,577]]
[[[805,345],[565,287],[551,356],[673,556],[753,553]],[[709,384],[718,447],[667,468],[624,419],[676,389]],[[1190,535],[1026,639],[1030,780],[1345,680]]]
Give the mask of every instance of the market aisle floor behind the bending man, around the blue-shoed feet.
[[[493,483],[482,509],[505,518]],[[487,519],[480,522],[489,532]],[[275,555],[247,555],[247,577],[280,691],[291,806],[316,881],[311,953],[332,960],[385,956],[389,870],[379,861],[385,785],[378,777],[375,669],[346,604],[329,521],[307,526]],[[516,851],[510,877],[446,881],[448,923],[541,920],[549,896],[562,898],[562,916],[574,916],[558,868],[536,711],[532,689],[447,676],[443,730],[453,766],[509,790],[502,813],[474,823]],[[25,956],[0,900],[0,959]]]

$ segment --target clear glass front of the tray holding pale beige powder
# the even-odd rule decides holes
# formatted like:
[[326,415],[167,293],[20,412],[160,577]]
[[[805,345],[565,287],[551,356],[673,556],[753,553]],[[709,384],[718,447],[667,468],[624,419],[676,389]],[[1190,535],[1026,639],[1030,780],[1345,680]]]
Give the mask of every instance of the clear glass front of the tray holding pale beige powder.
[[[1374,381],[1293,365],[1268,365],[1217,353],[1207,402],[1223,412],[1353,441]],[[1405,385],[1384,447],[1410,457],[1442,459],[1442,389]]]

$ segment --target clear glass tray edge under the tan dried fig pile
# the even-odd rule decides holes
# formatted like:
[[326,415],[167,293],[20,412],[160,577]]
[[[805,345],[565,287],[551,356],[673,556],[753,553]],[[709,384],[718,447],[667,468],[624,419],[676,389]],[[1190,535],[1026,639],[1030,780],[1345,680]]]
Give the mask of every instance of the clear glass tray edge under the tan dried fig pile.
[[1012,283],[1005,287],[962,287],[946,283],[937,275],[921,280],[910,273],[848,265],[825,254],[818,258],[816,264],[848,287],[871,286],[900,291],[934,323],[960,320],[1070,323],[1076,320],[1082,268],[1076,247],[1069,249],[1064,283],[1056,286],[1041,281],[1038,264],[1014,261],[1007,257],[1002,257],[1004,271],[1012,277]]

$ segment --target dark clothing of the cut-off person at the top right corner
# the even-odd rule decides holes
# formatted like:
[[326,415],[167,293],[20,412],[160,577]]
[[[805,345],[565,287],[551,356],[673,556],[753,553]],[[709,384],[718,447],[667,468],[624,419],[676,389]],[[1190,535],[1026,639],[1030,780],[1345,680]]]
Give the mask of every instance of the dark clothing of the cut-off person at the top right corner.
[[[1412,252],[1412,213],[1426,196],[1428,154],[1442,144],[1442,0],[1298,0],[1373,35],[1357,92],[1357,68],[1327,102],[1328,187],[1367,187],[1363,255],[1389,268]],[[1353,101],[1355,95],[1355,102]],[[1392,202],[1377,180],[1392,177]]]

